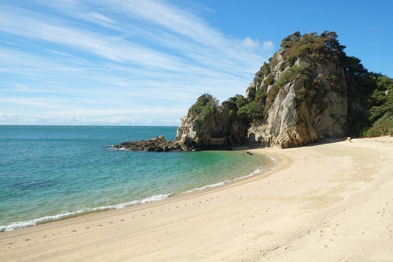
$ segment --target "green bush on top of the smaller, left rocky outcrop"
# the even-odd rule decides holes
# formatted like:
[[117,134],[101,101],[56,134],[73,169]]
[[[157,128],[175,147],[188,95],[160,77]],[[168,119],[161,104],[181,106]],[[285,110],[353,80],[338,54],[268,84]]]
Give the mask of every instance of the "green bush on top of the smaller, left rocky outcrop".
[[209,115],[217,110],[218,106],[219,101],[217,98],[213,97],[211,94],[205,93],[188,109],[188,112],[197,116],[198,123],[201,124],[206,121]]

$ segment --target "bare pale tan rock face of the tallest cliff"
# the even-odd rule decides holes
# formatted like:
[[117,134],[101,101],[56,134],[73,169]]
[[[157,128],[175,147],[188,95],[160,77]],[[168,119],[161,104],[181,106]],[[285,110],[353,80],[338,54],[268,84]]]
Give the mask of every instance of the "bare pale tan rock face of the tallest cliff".
[[[288,66],[281,71],[282,56],[277,56],[277,59],[278,64],[272,70],[273,83],[278,81],[283,72],[290,70]],[[289,148],[345,136],[348,99],[344,69],[333,62],[311,67],[307,56],[297,58],[294,64],[303,64],[304,69],[308,70],[307,81],[312,80],[314,85],[306,89],[304,80],[288,82],[274,99],[266,120],[254,123],[248,129],[250,142]],[[333,80],[331,76],[335,76]],[[252,94],[258,91],[258,86],[260,88],[261,84],[255,80],[250,84],[248,100],[252,100]],[[268,90],[272,90],[272,86]]]

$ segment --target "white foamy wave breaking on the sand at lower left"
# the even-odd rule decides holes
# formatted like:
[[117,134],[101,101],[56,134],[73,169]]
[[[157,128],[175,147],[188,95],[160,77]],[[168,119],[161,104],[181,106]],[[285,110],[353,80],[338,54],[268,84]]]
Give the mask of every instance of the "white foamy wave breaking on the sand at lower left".
[[0,226],[0,232],[11,231],[11,230],[18,229],[18,228],[30,227],[30,226],[35,226],[35,225],[44,224],[44,223],[48,223],[48,222],[77,217],[77,216],[81,216],[81,215],[88,214],[88,213],[95,213],[95,212],[112,210],[112,209],[120,209],[120,208],[125,208],[128,206],[135,206],[138,204],[159,201],[159,200],[166,199],[169,196],[170,196],[170,194],[159,194],[159,195],[153,195],[152,197],[149,197],[146,199],[135,200],[135,201],[117,204],[117,205],[103,206],[103,207],[98,207],[98,208],[85,208],[85,209],[80,209],[80,210],[77,210],[74,212],[67,212],[67,213],[61,213],[61,214],[57,214],[57,215],[53,215],[53,216],[45,216],[45,217],[41,217],[41,218],[36,218],[36,219],[32,219],[32,220],[13,222],[13,223],[9,223],[7,225]]

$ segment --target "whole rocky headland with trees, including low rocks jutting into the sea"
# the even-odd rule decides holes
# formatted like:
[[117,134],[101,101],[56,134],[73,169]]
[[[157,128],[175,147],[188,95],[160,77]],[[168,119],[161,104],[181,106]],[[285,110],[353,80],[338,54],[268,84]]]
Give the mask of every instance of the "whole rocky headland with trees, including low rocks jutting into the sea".
[[203,94],[164,136],[114,148],[145,151],[291,148],[347,136],[393,134],[393,79],[347,56],[335,32],[284,38],[246,89],[219,104]]

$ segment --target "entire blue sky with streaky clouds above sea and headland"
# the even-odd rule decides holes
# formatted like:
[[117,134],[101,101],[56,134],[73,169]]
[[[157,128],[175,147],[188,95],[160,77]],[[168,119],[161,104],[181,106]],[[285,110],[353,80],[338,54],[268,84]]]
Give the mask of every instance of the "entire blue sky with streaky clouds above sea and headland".
[[391,1],[0,0],[0,124],[178,125],[296,31],[393,77]]

